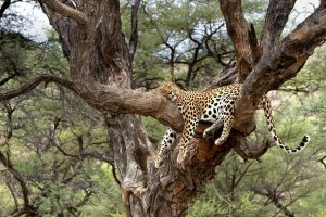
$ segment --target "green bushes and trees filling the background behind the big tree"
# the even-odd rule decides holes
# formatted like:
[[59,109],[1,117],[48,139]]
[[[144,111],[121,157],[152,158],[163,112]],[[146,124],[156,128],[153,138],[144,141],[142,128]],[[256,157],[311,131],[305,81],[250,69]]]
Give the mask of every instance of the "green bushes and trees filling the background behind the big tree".
[[[260,31],[266,2],[248,0],[243,8]],[[128,10],[124,2],[123,15]],[[17,18],[1,18],[0,91],[20,86],[27,75],[66,77],[68,65],[55,34],[37,43],[14,33]],[[128,37],[129,17],[124,15],[123,22]],[[269,93],[279,136],[296,144],[309,133],[311,145],[298,155],[275,148],[259,162],[229,154],[188,216],[326,216],[325,59],[321,47],[297,78]],[[135,88],[150,90],[174,72],[183,88],[203,89],[233,60],[217,1],[141,3]],[[260,112],[256,119],[252,146],[269,140]],[[158,144],[165,127],[142,120]],[[125,216],[101,114],[55,85],[2,101],[0,195],[0,216],[23,215],[26,195],[41,216]]]

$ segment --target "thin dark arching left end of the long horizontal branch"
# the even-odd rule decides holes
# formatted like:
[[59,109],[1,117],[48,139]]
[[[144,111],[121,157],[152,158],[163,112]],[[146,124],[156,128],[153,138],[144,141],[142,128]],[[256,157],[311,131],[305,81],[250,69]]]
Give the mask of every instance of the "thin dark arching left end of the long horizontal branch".
[[41,82],[55,82],[59,84],[70,90],[75,91],[75,86],[72,81],[62,79],[60,77],[53,76],[53,75],[40,75],[29,81],[27,81],[25,85],[20,87],[18,89],[9,91],[7,93],[0,93],[0,101],[10,100],[13,98],[16,98],[18,95],[25,94],[34,90],[39,84]]

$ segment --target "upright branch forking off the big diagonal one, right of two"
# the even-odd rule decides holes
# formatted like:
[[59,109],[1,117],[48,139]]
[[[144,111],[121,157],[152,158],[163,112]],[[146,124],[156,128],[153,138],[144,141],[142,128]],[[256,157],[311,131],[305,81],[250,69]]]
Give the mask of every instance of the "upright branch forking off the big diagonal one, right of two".
[[269,1],[265,25],[261,35],[261,49],[263,53],[266,53],[274,46],[279,43],[279,36],[288,21],[294,3],[296,0]]

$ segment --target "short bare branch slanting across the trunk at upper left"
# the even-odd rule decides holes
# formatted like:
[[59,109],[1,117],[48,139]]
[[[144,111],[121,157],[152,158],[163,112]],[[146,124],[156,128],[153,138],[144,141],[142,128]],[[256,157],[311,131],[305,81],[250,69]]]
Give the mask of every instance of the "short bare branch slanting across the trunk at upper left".
[[48,8],[55,11],[57,13],[75,20],[79,26],[87,28],[88,26],[88,18],[86,14],[83,12],[73,9],[64,3],[61,3],[59,0],[41,0]]

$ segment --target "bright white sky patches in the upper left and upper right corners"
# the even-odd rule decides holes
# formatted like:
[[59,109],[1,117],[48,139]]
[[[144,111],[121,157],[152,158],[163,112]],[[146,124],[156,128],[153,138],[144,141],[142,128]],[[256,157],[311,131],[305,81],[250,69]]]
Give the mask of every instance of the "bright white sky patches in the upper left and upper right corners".
[[[318,4],[319,0],[297,0],[294,11],[290,17],[296,18],[296,24],[298,24],[313,12],[314,7],[317,7]],[[47,30],[50,29],[50,24],[41,9],[26,2],[18,2],[14,5],[14,8],[10,8],[10,12],[18,11],[20,14],[32,20],[32,25],[24,24],[24,29],[20,29],[20,31],[36,41],[45,41],[47,38]]]

